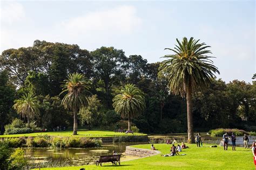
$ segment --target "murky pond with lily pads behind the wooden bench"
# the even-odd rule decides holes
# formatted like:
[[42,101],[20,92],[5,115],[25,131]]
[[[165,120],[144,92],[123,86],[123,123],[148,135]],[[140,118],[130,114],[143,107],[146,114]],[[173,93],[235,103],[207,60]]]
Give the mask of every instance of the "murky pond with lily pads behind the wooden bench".
[[113,151],[118,154],[125,152],[126,146],[147,143],[104,143],[102,147],[90,148],[24,148],[31,160],[66,162],[70,166],[85,165],[95,162],[100,155],[111,155]]

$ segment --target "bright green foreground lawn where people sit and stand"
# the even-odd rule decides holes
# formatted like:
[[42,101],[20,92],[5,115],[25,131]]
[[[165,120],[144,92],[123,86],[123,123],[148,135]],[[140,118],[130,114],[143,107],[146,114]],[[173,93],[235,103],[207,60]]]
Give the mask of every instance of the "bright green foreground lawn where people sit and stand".
[[[151,144],[135,145],[138,148],[150,148]],[[163,154],[170,151],[171,145],[154,144],[156,148]],[[253,155],[250,149],[237,147],[237,151],[232,151],[232,147],[228,151],[224,151],[223,147],[204,147],[198,148],[196,144],[188,144],[190,148],[183,150],[179,155],[174,157],[161,157],[154,155],[152,157],[136,159],[122,162],[121,166],[112,166],[112,164],[103,164],[102,167],[96,165],[84,165],[78,167],[62,167],[62,168],[41,168],[41,169],[254,169]],[[180,154],[181,154],[180,153]]]

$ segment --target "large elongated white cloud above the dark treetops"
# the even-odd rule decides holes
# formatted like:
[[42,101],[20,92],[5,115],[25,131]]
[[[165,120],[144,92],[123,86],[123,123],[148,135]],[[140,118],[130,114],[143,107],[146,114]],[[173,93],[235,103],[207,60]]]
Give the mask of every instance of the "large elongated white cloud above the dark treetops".
[[71,18],[62,22],[65,31],[72,35],[91,33],[122,33],[129,34],[138,30],[142,20],[136,16],[133,6],[118,6],[117,8],[86,13],[84,16]]

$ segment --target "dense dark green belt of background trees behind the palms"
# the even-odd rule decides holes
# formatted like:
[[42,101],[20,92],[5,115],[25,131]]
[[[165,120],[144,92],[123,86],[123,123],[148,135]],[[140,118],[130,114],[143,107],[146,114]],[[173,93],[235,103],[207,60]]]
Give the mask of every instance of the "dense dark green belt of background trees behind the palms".
[[[88,128],[91,123],[91,128],[126,128],[128,118],[120,118],[113,110],[112,97],[119,94],[124,84],[133,83],[144,93],[146,105],[144,111],[133,118],[133,125],[146,133],[185,132],[185,98],[170,93],[169,81],[158,77],[160,62],[148,63],[145,57],[137,54],[126,57],[122,49],[114,47],[89,52],[78,45],[40,40],[32,47],[6,49],[0,56],[1,133],[5,124],[19,117],[12,108],[14,100],[28,93],[37,97],[39,112],[33,118],[37,126],[49,130],[72,126],[73,110],[61,104],[64,94],[58,96],[62,91],[60,85],[72,73],[83,74],[86,82],[92,82],[86,87],[93,96],[97,95],[88,103],[91,108],[81,109],[88,111],[87,115],[93,119],[87,122],[78,115],[79,126]],[[255,75],[252,83],[213,78],[208,88],[194,91],[191,98],[194,130],[256,129]]]

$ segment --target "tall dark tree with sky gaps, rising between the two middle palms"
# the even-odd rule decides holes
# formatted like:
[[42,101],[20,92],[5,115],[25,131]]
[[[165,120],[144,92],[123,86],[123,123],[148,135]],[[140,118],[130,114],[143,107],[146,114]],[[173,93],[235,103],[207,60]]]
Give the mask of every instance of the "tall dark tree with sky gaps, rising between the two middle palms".
[[91,52],[94,65],[95,79],[103,83],[99,86],[105,89],[107,107],[111,107],[111,87],[113,84],[120,81],[120,76],[123,74],[127,60],[122,49],[114,47],[101,47]]

